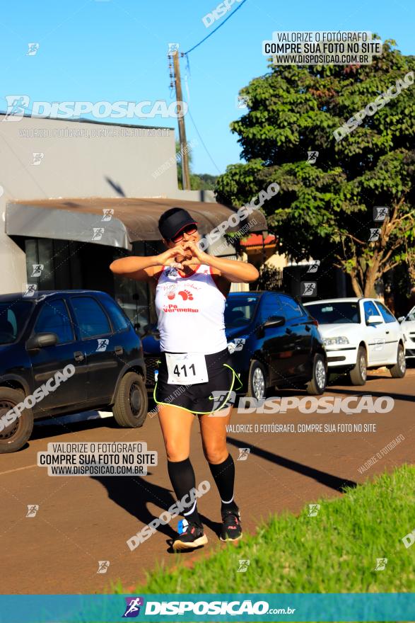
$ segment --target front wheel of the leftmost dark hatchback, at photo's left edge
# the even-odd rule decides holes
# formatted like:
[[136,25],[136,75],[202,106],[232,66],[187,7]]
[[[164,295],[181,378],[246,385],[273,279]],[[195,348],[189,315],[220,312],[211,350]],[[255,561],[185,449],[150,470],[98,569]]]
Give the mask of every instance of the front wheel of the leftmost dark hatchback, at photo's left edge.
[[[25,399],[20,389],[0,387],[0,417]],[[20,450],[30,439],[33,430],[33,411],[24,408],[21,416],[13,423],[0,430],[0,454]]]

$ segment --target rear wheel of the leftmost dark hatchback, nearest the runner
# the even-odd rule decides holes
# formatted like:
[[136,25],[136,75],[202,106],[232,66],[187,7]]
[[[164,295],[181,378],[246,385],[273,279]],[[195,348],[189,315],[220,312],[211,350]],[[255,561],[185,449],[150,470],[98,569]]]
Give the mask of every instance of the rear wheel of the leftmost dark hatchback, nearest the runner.
[[127,372],[119,382],[112,407],[115,421],[122,428],[139,428],[148,411],[148,396],[143,378],[136,372]]

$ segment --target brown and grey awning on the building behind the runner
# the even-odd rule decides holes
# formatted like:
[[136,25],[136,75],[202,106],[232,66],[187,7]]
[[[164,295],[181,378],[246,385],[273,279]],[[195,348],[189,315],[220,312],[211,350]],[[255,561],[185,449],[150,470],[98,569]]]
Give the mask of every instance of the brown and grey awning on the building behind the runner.
[[[161,198],[23,200],[8,202],[5,231],[11,236],[76,240],[131,250],[135,241],[160,240],[158,219],[175,206],[192,215],[199,223],[201,235],[208,234],[238,210],[215,202]],[[110,219],[105,219],[104,210],[114,210]],[[243,225],[249,225],[250,232],[267,230],[260,210],[227,231],[235,232]]]

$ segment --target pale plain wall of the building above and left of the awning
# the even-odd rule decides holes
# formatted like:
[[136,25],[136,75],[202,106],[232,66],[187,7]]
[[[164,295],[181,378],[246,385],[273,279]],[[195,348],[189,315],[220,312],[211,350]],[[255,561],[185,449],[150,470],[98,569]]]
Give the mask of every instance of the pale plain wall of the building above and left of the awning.
[[[129,197],[185,198],[177,188],[171,128],[14,119],[0,114],[1,294],[19,292],[26,282],[25,253],[4,233],[9,200],[119,196],[108,179]],[[128,131],[132,136],[118,135]],[[37,166],[34,152],[44,154]]]

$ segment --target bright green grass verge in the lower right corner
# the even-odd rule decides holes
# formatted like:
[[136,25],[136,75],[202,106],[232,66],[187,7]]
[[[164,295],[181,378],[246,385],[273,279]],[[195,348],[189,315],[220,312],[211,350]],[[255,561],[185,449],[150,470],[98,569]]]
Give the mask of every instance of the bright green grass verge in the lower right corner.
[[[317,503],[316,517],[308,517],[308,505],[298,516],[271,515],[236,547],[210,541],[211,556],[192,568],[182,566],[189,555],[177,555],[173,570],[158,566],[135,593],[415,591],[415,544],[407,549],[401,540],[415,529],[415,467]],[[384,571],[374,571],[377,558],[388,559]],[[250,560],[246,573],[238,573],[240,559]],[[124,593],[120,584],[112,590]]]

